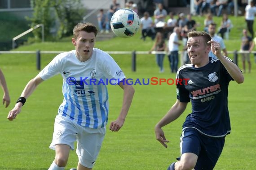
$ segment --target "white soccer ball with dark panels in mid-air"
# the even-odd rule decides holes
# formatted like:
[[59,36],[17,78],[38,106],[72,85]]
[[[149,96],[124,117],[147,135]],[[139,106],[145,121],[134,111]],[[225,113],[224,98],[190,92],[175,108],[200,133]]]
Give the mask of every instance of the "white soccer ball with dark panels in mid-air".
[[132,37],[140,28],[140,18],[132,9],[119,9],[111,18],[110,26],[116,36]]

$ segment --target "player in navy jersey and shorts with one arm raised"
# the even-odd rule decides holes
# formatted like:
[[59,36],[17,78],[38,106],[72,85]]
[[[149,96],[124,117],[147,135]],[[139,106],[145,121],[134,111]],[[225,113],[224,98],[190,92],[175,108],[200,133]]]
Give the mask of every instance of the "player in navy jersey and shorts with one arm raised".
[[[187,115],[181,134],[181,157],[168,170],[212,170],[231,130],[227,105],[229,82],[243,83],[244,77],[236,64],[221,55],[220,44],[209,34],[192,31],[188,38],[191,64],[181,66],[177,72],[177,78],[186,81],[177,84],[177,101],[156,124],[155,135],[167,148],[169,141],[162,127],[177,119],[191,101],[192,112]],[[209,51],[217,58],[209,57]]]

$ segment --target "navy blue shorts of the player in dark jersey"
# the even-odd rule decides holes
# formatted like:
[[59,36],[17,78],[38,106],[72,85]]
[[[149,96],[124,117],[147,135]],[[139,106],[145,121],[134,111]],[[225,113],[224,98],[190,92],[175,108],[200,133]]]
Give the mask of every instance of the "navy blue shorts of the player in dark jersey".
[[225,137],[209,137],[194,128],[186,128],[181,134],[181,155],[183,153],[194,153],[198,160],[195,170],[212,170],[218,161]]

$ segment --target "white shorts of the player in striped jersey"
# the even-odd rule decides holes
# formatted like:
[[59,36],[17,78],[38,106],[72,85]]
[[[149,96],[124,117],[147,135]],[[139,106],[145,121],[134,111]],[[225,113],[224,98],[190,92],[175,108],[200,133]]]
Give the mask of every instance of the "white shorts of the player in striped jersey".
[[56,144],[67,144],[74,150],[77,141],[76,154],[79,163],[87,168],[93,168],[106,134],[106,127],[93,129],[82,127],[69,118],[57,115],[54,123],[53,141],[49,148],[55,150]]

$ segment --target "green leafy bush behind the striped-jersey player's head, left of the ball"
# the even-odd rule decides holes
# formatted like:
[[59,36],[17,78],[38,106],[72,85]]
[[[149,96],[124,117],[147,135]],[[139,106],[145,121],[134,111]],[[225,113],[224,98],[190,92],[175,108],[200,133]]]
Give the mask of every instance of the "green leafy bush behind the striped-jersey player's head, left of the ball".
[[[73,27],[82,20],[84,13],[81,0],[31,0],[31,6],[34,9],[33,17],[27,19],[31,21],[31,27],[44,24],[46,40],[71,35]],[[38,42],[41,32],[33,32],[35,41]]]

